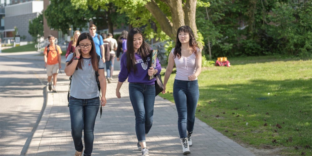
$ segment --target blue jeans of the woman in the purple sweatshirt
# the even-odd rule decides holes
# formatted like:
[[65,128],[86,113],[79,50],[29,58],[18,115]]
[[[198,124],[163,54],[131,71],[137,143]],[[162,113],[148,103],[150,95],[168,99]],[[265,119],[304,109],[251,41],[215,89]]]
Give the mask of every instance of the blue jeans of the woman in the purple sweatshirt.
[[153,124],[155,85],[129,83],[129,96],[135,115],[135,132],[139,142],[145,142],[145,134]]

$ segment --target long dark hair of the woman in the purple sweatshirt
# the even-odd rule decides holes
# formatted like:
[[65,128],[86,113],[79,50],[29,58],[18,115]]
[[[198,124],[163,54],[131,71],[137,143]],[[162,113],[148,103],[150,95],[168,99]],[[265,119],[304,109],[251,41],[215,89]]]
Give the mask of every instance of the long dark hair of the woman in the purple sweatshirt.
[[127,38],[127,69],[130,71],[132,67],[134,72],[136,71],[135,66],[135,56],[134,56],[134,47],[133,47],[133,37],[135,34],[142,35],[142,45],[138,49],[138,53],[141,55],[144,62],[147,62],[147,57],[150,54],[150,46],[144,41],[143,33],[140,31],[139,28],[132,28],[128,34]]

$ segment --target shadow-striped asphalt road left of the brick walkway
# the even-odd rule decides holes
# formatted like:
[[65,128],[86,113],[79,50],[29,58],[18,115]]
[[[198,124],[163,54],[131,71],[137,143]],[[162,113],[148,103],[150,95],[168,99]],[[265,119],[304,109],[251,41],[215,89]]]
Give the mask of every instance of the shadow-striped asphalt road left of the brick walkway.
[[43,60],[0,57],[0,155],[26,152],[45,107],[45,87]]

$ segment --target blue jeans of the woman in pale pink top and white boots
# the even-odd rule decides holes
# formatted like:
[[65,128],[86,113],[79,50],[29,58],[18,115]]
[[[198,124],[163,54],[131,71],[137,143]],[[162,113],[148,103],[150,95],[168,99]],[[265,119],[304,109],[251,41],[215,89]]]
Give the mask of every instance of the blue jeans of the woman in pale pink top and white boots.
[[198,81],[174,80],[173,99],[178,111],[180,138],[186,138],[186,130],[193,132],[195,111],[199,98]]

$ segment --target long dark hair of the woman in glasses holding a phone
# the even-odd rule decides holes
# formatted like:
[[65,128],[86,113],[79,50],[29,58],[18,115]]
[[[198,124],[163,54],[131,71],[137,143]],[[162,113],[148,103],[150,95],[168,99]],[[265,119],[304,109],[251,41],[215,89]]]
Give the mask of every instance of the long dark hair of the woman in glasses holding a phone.
[[[95,71],[98,71],[99,69],[99,60],[97,60],[97,54],[95,52],[95,46],[94,46],[94,41],[91,37],[91,35],[89,33],[82,33],[79,35],[78,39],[77,39],[77,43],[76,43],[76,47],[79,46],[79,42],[84,40],[84,39],[88,39],[91,42],[91,51],[90,51],[90,55],[91,55],[91,64],[92,67]],[[76,56],[76,52],[73,53],[73,58]],[[68,65],[70,65],[73,62],[73,60],[68,62]],[[83,65],[83,60],[82,60],[82,56],[80,56],[80,59],[78,60],[78,64],[76,66],[76,70],[82,69],[82,65]]]

